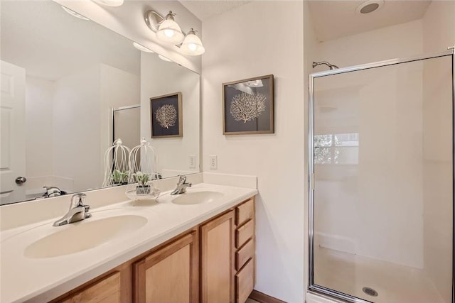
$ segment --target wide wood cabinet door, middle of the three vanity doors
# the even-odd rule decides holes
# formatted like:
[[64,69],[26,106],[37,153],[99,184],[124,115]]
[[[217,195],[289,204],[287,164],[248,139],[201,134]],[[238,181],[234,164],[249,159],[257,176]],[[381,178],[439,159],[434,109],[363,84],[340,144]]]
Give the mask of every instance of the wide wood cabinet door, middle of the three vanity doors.
[[134,263],[134,302],[198,303],[196,231]]

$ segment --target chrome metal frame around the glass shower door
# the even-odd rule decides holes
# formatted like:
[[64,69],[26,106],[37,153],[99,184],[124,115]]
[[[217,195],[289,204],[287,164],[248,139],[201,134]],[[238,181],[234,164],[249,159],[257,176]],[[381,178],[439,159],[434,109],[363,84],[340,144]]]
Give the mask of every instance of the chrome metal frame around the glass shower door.
[[454,180],[455,180],[455,163],[454,163],[454,151],[455,151],[455,48],[449,48],[442,53],[434,53],[431,55],[421,55],[417,57],[409,57],[405,59],[392,59],[379,62],[368,63],[364,65],[355,65],[352,67],[343,67],[338,70],[328,70],[324,72],[316,72],[309,75],[309,283],[308,291],[314,294],[328,295],[335,299],[342,299],[347,302],[353,303],[368,303],[370,301],[354,297],[350,294],[338,292],[337,290],[331,290],[330,288],[323,287],[321,285],[314,284],[314,79],[319,77],[325,77],[329,75],[338,75],[346,72],[356,72],[360,70],[369,70],[375,67],[385,67],[389,65],[397,65],[402,63],[421,61],[427,59],[433,59],[437,57],[451,56],[452,60],[452,303],[455,303],[455,197],[454,197]]

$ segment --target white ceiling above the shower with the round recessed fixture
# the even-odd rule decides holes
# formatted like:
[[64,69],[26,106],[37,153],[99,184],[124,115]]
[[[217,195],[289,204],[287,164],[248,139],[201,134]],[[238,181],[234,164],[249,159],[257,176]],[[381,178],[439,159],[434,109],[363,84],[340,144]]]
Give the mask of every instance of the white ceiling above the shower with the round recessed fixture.
[[355,12],[364,0],[309,0],[308,4],[316,38],[322,42],[417,20],[431,1],[385,0],[382,7],[367,14]]

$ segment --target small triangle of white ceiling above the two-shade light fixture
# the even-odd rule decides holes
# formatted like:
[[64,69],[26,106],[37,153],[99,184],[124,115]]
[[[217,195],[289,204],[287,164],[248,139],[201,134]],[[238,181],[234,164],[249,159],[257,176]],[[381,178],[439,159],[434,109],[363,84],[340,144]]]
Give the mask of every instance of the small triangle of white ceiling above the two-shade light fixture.
[[200,21],[207,20],[213,16],[220,15],[225,11],[235,9],[237,6],[245,5],[251,1],[242,0],[197,0],[187,1],[179,0],[183,6],[191,11]]

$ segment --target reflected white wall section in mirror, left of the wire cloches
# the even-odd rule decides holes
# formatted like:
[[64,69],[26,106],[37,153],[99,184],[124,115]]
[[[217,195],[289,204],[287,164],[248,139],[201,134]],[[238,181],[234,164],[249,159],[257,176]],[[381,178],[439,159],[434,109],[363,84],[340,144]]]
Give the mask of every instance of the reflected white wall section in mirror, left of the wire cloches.
[[54,175],[71,180],[70,192],[98,188],[100,171],[100,67],[58,79],[54,96]]

